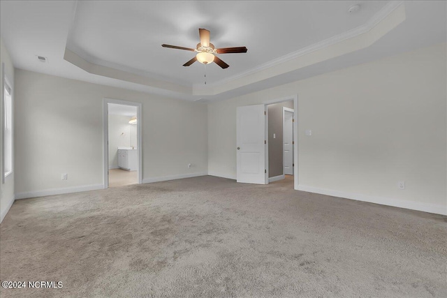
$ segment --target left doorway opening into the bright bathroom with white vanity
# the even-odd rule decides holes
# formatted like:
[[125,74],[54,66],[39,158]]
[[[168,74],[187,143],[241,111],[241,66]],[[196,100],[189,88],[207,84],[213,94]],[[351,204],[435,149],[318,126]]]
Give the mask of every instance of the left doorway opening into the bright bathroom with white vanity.
[[141,104],[104,99],[104,188],[142,183]]

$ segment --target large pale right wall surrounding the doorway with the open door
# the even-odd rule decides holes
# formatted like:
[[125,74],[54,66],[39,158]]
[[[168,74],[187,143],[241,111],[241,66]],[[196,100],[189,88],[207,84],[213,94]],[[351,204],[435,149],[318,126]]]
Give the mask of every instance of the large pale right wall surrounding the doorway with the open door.
[[300,189],[447,214],[446,80],[442,44],[209,103],[209,173],[236,177],[237,106],[298,94]]

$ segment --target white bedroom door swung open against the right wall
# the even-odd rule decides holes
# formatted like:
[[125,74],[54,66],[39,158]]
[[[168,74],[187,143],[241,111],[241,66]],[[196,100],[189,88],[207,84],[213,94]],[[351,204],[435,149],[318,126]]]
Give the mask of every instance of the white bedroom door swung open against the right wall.
[[237,107],[237,182],[267,184],[265,105]]

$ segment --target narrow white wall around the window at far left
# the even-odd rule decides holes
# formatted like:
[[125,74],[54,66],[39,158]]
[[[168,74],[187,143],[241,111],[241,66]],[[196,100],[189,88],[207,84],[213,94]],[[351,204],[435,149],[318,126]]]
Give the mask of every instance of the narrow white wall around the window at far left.
[[[0,65],[4,63],[5,64],[5,75],[8,78],[8,81],[13,88],[13,110],[15,108],[15,93],[14,93],[14,66],[13,61],[10,59],[10,55],[8,50],[5,47],[5,44],[3,43],[3,39],[0,37]],[[3,77],[0,78],[0,80],[3,80]],[[3,84],[2,84],[3,86]],[[3,131],[4,129],[4,120],[3,120],[3,96],[4,91],[3,89],[0,90],[0,130]],[[13,128],[13,136],[14,136],[14,128]],[[3,218],[6,216],[6,213],[8,212],[9,208],[14,202],[14,175],[15,175],[15,164],[14,164],[14,142],[13,142],[13,173],[9,174],[8,177],[5,178],[5,184],[1,184],[0,182],[0,223],[3,221]],[[0,140],[0,156],[3,154],[3,143]],[[3,170],[3,167],[2,167]],[[3,174],[3,171],[1,171],[1,174]]]

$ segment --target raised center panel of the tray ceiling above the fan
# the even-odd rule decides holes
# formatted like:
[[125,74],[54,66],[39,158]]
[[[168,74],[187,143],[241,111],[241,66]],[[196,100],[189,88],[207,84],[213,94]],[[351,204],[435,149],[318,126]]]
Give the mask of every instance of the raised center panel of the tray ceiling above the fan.
[[[80,1],[68,48],[88,61],[153,75],[184,85],[204,80],[203,64],[182,66],[195,53],[198,28],[211,31],[217,47],[247,46],[247,54],[221,54],[230,64],[207,67],[216,82],[364,24],[386,1]],[[310,25],[310,26],[309,26]]]

